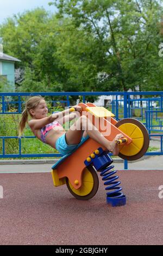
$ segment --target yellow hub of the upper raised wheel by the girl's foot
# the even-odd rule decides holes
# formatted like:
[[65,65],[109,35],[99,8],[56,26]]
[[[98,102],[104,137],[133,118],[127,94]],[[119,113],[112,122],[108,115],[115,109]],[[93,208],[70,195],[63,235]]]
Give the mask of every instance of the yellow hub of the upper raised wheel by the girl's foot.
[[133,156],[139,153],[144,144],[144,136],[140,128],[135,124],[126,123],[120,125],[118,129],[133,139],[129,145],[120,146],[120,153],[126,156]]

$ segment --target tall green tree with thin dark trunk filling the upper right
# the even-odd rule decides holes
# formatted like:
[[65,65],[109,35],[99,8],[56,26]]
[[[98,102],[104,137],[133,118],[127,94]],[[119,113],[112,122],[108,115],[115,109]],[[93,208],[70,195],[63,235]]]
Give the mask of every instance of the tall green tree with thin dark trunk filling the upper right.
[[158,59],[160,1],[54,0],[51,4],[57,6],[59,17],[68,15],[74,26],[94,36],[97,54],[91,58],[98,67],[98,88],[162,88],[156,79],[158,70],[162,74]]

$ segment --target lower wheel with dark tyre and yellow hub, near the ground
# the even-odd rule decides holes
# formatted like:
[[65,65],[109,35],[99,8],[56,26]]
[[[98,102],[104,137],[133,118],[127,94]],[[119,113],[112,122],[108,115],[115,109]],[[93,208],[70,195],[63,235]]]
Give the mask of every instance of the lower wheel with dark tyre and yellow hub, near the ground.
[[82,186],[76,190],[66,178],[66,185],[70,193],[79,200],[89,200],[95,196],[99,180],[96,170],[92,166],[89,166],[83,170],[82,174]]

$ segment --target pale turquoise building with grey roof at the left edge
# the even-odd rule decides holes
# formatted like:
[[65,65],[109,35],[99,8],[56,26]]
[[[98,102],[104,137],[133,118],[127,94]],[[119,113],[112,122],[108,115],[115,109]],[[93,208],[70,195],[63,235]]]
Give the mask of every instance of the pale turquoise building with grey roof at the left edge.
[[7,79],[12,92],[15,91],[15,62],[21,60],[0,52],[0,77]]

